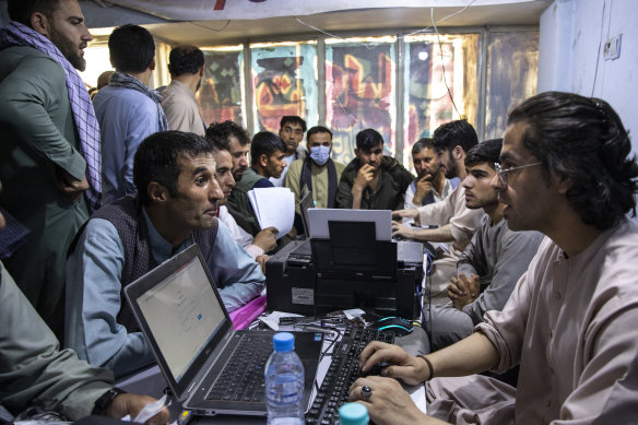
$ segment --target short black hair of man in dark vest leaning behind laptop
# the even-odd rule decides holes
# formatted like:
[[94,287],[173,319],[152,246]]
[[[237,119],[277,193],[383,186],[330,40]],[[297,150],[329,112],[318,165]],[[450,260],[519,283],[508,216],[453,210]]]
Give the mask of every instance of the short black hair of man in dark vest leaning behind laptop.
[[144,205],[151,204],[149,184],[156,181],[177,196],[179,160],[192,160],[199,155],[212,154],[213,149],[201,135],[184,131],[161,131],[149,135],[135,152],[133,158],[133,182]]

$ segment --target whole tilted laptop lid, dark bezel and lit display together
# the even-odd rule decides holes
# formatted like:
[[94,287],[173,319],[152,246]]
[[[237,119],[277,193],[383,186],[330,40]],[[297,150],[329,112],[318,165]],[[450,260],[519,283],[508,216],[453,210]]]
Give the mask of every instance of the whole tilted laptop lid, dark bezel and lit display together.
[[175,394],[181,399],[233,329],[197,244],[125,287]]

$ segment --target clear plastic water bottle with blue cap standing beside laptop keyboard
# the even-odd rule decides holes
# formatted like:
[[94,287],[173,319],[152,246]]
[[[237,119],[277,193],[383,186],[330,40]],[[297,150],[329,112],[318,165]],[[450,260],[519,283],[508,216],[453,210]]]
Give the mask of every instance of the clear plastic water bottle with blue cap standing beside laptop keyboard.
[[303,425],[304,365],[294,352],[295,337],[279,332],[274,352],[265,363],[265,405],[269,425]]

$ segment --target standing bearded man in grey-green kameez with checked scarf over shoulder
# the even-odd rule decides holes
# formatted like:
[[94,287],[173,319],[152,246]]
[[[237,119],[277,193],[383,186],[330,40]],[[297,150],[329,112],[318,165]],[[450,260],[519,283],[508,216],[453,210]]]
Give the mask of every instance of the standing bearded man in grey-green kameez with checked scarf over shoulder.
[[80,4],[8,2],[0,31],[0,205],[26,226],[4,261],[45,322],[63,334],[67,249],[99,205],[99,129],[84,83],[92,39]]

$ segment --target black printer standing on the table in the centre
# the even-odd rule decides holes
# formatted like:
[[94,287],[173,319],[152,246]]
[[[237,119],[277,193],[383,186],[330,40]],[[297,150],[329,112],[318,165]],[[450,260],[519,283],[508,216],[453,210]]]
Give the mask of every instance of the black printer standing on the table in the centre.
[[329,238],[293,241],[265,263],[268,310],[418,317],[422,244],[377,240],[373,222],[333,220],[328,227]]

